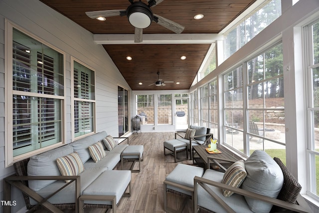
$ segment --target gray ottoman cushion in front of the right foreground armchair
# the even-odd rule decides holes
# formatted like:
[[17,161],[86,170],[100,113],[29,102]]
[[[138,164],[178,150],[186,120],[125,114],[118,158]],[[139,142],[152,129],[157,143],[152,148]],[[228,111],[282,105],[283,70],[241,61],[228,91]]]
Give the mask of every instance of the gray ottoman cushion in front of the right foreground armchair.
[[[195,167],[186,164],[178,164],[175,167],[175,169],[166,177],[166,180],[186,187],[193,188],[194,177],[202,177],[203,174],[204,169],[201,167]],[[190,192],[181,190],[177,187],[172,187],[168,185],[167,188],[191,196]]]

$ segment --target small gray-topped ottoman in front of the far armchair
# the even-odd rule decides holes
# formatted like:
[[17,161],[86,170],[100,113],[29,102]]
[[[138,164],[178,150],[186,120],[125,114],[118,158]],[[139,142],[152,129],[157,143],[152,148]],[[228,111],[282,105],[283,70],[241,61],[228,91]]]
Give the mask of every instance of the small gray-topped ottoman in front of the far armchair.
[[[164,155],[168,155],[168,154],[165,153],[165,149],[168,149],[171,152],[171,153],[168,153],[168,154],[174,156],[175,163],[176,162],[180,162],[180,161],[184,161],[184,160],[188,160],[187,144],[185,144],[182,141],[179,141],[177,139],[164,141]],[[178,152],[183,152],[183,151],[186,152],[186,158],[177,158],[177,153]]]

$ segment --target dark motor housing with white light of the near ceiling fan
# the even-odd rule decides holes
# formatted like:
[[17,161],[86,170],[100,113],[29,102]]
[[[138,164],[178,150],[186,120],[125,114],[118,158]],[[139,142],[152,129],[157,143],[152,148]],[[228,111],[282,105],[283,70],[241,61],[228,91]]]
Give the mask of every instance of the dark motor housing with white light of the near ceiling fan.
[[153,11],[142,1],[131,4],[126,12],[129,22],[137,28],[147,28],[153,21]]

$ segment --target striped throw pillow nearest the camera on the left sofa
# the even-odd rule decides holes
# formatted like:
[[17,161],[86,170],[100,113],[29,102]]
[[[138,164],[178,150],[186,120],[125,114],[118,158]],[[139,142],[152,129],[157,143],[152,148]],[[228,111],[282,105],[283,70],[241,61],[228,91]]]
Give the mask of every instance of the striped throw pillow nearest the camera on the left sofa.
[[[84,171],[83,163],[77,152],[56,159],[56,163],[63,176],[79,175]],[[65,181],[69,183],[70,180]]]

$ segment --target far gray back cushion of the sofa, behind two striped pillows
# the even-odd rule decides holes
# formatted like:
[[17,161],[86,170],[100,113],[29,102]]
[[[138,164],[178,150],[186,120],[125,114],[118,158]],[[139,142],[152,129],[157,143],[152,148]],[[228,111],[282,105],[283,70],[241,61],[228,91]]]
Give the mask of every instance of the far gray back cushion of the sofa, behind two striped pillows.
[[[85,162],[87,162],[87,160],[91,158],[88,147],[103,140],[103,138],[107,136],[108,134],[105,131],[103,131],[103,132],[95,133],[94,135],[90,135],[85,138],[79,139],[71,143],[71,145],[74,149],[74,152],[79,153],[79,156],[84,164]],[[105,149],[104,145],[103,145],[103,148]]]

